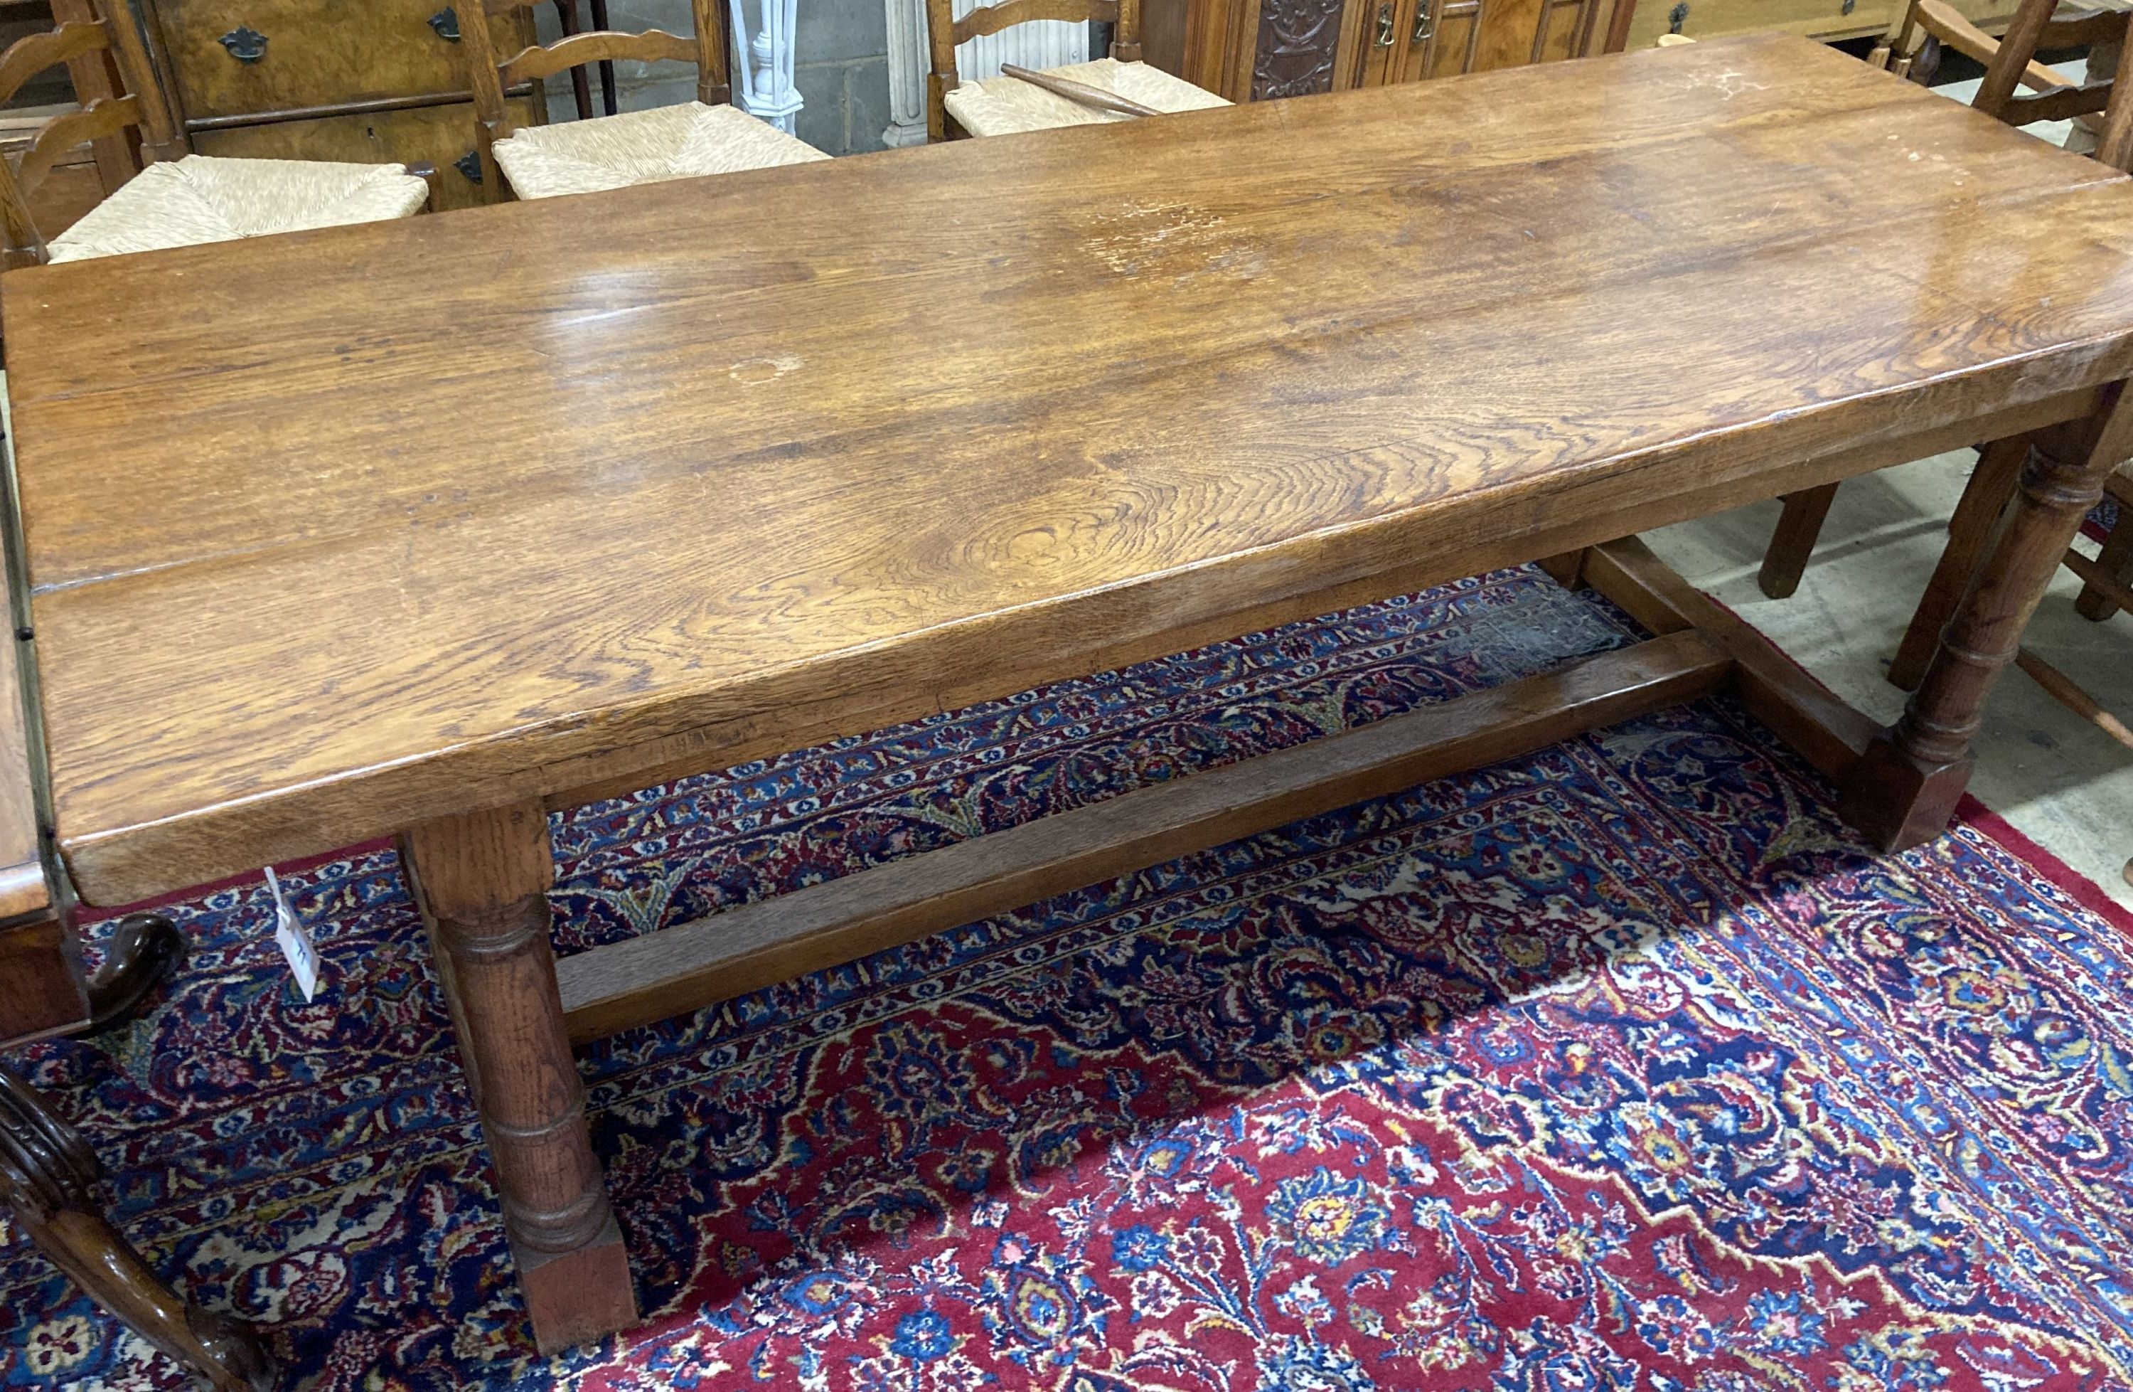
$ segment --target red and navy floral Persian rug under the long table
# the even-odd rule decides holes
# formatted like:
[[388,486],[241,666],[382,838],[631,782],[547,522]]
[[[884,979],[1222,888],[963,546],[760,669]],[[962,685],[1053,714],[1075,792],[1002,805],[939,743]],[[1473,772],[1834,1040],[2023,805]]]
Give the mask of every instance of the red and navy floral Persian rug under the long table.
[[[1638,634],[1534,570],[557,818],[563,950]],[[644,1328],[542,1360],[395,856],[171,914],[13,1057],[288,1388],[2133,1388],[2133,942],[1988,816],[1875,858],[1726,700],[587,1050]],[[6,1388],[175,1388],[0,1236]]]

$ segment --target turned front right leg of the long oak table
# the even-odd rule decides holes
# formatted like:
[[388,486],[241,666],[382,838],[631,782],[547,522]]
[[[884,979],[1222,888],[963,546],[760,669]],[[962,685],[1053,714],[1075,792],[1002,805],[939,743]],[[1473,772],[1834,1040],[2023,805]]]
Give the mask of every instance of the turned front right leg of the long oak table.
[[1986,692],[2014,660],[2067,542],[2103,497],[2105,476],[2133,455],[2133,393],[2110,408],[2086,453],[2060,457],[2041,440],[2022,465],[2007,529],[1962,596],[1918,692],[1845,779],[1845,820],[1881,850],[1930,841],[1954,816],[1971,777],[1969,747],[1984,724]]

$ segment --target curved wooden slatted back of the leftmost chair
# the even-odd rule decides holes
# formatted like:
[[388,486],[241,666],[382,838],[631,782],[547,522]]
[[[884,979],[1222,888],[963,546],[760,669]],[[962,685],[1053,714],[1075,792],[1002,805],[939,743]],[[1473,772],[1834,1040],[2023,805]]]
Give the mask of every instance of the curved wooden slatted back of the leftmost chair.
[[175,160],[186,154],[186,141],[171,122],[171,105],[156,83],[141,32],[126,9],[119,9],[117,23],[109,15],[68,19],[58,28],[17,38],[0,53],[0,102],[47,68],[105,51],[115,60],[126,92],[62,111],[36,128],[19,156],[0,158],[0,228],[4,228],[0,267],[38,265],[47,258],[45,237],[30,213],[30,196],[66,152],[85,141],[139,130],[145,160]]

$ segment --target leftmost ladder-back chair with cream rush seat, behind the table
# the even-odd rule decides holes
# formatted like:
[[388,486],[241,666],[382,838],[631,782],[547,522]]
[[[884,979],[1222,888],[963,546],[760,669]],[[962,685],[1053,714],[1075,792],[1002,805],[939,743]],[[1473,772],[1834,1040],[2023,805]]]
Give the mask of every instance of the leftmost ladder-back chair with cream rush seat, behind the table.
[[[0,53],[0,100],[45,68],[109,53],[124,94],[45,122],[13,160],[0,160],[0,265],[85,260],[203,241],[235,241],[314,226],[380,222],[422,211],[429,184],[403,164],[328,164],[316,160],[222,160],[186,152],[171,105],[156,83],[141,32],[119,9],[30,34]],[[83,141],[139,130],[147,167],[49,241],[30,213],[30,196],[53,164]]]

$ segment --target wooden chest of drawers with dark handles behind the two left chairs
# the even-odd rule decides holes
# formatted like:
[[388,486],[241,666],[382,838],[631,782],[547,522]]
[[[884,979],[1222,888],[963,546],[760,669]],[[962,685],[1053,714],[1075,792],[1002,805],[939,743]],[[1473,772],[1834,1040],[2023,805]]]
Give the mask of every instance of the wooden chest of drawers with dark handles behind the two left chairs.
[[[448,0],[134,0],[171,100],[201,154],[437,167],[439,207],[488,203]],[[474,15],[474,0],[465,15]],[[531,43],[531,13],[488,21]],[[544,120],[538,92],[512,120]]]

